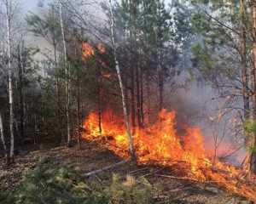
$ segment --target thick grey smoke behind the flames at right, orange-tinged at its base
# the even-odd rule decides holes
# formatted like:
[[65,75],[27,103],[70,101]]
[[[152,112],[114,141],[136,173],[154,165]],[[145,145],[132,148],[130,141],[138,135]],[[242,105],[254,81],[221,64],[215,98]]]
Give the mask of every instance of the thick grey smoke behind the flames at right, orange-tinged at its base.
[[[236,110],[229,111],[226,99],[220,99],[218,91],[207,83],[190,82],[188,88],[183,88],[188,77],[183,71],[174,78],[177,88],[168,95],[166,108],[176,111],[177,124],[200,127],[209,156],[217,148],[219,159],[240,166],[246,156],[240,115]],[[240,104],[238,101],[236,105]]]

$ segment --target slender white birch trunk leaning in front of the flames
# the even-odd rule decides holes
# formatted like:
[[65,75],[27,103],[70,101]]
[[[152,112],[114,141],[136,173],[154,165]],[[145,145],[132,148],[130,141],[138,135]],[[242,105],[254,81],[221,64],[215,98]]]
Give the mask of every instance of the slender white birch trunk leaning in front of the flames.
[[126,106],[126,101],[125,101],[125,90],[124,90],[124,86],[123,86],[123,82],[122,82],[122,78],[121,78],[119,61],[116,58],[116,43],[115,43],[115,37],[114,37],[113,8],[112,8],[111,0],[109,0],[109,10],[110,10],[110,14],[111,14],[110,26],[111,26],[111,41],[112,41],[112,45],[113,45],[113,58],[114,58],[114,63],[115,63],[115,69],[116,69],[117,75],[119,77],[119,86],[120,86],[120,90],[121,90],[122,103],[123,103],[123,109],[124,109],[124,114],[125,114],[126,129],[127,129],[127,134],[128,134],[129,144],[130,144],[131,159],[135,164],[137,164],[137,158],[135,155],[135,150],[134,150],[133,142],[132,142],[132,138],[131,138],[131,127],[130,127],[129,116],[127,113],[127,106]]

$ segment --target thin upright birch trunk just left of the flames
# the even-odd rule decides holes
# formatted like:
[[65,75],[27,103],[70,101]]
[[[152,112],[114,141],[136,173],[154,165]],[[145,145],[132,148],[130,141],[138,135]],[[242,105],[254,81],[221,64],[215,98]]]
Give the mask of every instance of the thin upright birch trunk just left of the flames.
[[64,60],[65,60],[65,74],[66,74],[66,116],[67,116],[67,146],[70,146],[71,142],[71,133],[70,133],[70,90],[69,90],[69,68],[67,65],[67,47],[66,47],[66,40],[65,40],[65,33],[64,33],[64,25],[62,20],[62,9],[61,9],[61,1],[59,1],[59,9],[60,9],[60,21],[61,21],[61,35],[62,35],[62,42],[64,48]]

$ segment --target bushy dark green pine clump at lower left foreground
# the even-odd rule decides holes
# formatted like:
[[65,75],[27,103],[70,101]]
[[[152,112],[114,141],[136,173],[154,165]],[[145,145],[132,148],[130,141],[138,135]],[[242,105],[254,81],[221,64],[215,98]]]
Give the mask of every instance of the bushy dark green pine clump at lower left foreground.
[[63,165],[47,173],[39,161],[23,174],[16,203],[84,203],[85,188],[72,167]]

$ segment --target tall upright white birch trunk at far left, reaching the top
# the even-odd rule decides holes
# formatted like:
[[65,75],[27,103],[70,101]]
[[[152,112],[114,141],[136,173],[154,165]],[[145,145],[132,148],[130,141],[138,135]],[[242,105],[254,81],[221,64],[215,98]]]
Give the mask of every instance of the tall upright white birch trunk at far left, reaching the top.
[[9,128],[10,128],[10,150],[9,150],[9,162],[13,163],[14,149],[15,149],[15,135],[14,135],[14,99],[13,99],[13,85],[12,85],[12,66],[11,66],[11,5],[9,5],[9,1],[5,2],[6,8],[6,26],[7,26],[7,47],[8,47],[8,83],[9,83]]

